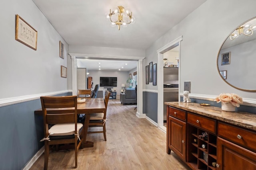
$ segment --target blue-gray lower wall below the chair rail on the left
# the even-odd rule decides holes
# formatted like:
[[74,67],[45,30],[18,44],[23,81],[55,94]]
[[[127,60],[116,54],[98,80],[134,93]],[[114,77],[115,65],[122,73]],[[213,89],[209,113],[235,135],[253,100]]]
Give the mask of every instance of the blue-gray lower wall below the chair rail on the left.
[[[71,92],[56,96],[70,96]],[[44,143],[43,118],[34,115],[40,99],[0,107],[0,169],[20,170]]]

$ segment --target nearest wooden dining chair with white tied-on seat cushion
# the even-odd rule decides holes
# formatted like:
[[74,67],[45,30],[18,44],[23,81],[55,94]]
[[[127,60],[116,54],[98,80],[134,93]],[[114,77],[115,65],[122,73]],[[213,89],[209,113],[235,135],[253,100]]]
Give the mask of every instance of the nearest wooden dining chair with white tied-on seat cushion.
[[[48,168],[49,146],[74,143],[75,168],[77,152],[83,148],[84,128],[77,123],[77,96],[41,97],[44,119],[44,170]],[[63,109],[66,108],[66,109]],[[53,125],[49,129],[49,125]]]

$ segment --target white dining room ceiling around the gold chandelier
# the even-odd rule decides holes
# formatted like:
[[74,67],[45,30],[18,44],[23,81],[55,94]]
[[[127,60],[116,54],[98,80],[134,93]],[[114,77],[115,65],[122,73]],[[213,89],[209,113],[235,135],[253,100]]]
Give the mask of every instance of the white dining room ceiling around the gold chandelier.
[[[33,0],[68,45],[146,50],[206,0]],[[136,18],[111,27],[105,15],[117,6]],[[114,62],[114,61],[113,61]],[[111,65],[118,65],[112,62]],[[107,63],[106,63],[107,64]],[[104,65],[106,65],[104,64]],[[136,67],[136,64],[135,64]]]

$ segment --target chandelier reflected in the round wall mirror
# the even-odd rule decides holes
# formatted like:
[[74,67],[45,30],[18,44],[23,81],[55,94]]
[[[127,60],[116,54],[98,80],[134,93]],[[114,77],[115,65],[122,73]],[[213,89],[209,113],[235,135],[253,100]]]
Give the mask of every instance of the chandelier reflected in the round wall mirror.
[[230,39],[233,40],[237,38],[239,35],[244,34],[246,36],[251,36],[253,31],[256,30],[256,23],[250,24],[250,23],[245,23],[244,25],[241,25],[238,27],[231,35]]

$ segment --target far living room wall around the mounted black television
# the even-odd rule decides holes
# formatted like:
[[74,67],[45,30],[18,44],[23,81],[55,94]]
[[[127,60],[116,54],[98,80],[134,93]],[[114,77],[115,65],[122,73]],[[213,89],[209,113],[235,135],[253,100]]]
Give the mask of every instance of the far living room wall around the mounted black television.
[[[121,84],[124,83],[126,84],[126,87],[128,86],[126,81],[128,79],[128,72],[125,71],[90,71],[88,70],[88,72],[90,72],[90,74],[88,76],[92,77],[92,82],[93,85],[92,87],[95,87],[95,84],[100,84],[100,77],[117,77],[117,87],[113,87],[113,89],[116,89],[116,93],[120,94],[121,92]],[[100,87],[100,89],[103,89],[104,87]]]

